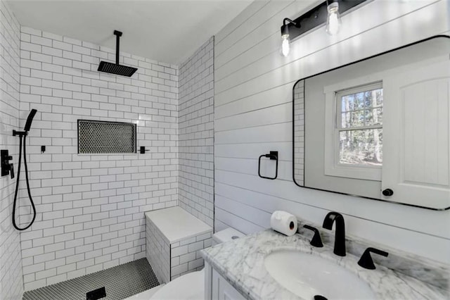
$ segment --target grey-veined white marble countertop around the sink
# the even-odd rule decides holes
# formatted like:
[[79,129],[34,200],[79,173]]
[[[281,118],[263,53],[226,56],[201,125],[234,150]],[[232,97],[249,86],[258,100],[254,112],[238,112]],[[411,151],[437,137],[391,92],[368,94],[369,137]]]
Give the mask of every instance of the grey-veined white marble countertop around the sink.
[[204,249],[202,255],[214,270],[249,299],[301,299],[278,284],[264,268],[264,257],[277,250],[298,250],[334,261],[366,281],[378,299],[448,299],[448,294],[438,287],[382,265],[377,265],[376,270],[366,270],[357,264],[358,257],[336,256],[329,246],[313,247],[299,234],[286,237],[274,230],[264,230]]

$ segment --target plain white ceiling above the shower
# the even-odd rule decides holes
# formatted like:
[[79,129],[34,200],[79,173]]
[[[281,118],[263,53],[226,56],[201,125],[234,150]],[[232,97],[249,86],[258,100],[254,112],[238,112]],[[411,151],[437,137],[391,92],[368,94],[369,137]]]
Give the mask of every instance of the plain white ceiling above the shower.
[[10,0],[20,25],[178,65],[252,0]]

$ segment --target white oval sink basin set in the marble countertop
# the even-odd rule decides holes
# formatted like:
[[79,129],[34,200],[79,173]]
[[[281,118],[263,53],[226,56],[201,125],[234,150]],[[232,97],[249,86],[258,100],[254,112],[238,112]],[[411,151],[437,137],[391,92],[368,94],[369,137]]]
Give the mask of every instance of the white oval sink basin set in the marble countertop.
[[271,277],[302,299],[375,299],[368,284],[356,274],[325,258],[300,251],[275,251],[264,266]]

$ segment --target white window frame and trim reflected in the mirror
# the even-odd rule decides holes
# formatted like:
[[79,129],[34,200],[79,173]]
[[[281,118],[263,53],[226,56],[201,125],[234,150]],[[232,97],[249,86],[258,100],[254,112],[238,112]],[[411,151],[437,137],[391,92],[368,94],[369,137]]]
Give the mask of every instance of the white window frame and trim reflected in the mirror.
[[[324,87],[326,101],[325,116],[325,164],[324,173],[328,176],[356,178],[361,180],[381,181],[381,165],[349,165],[340,163],[340,124],[341,109],[338,108],[338,94],[352,94],[364,90],[383,88],[383,80],[368,76],[359,79],[340,82]],[[361,130],[371,129],[361,127]]]

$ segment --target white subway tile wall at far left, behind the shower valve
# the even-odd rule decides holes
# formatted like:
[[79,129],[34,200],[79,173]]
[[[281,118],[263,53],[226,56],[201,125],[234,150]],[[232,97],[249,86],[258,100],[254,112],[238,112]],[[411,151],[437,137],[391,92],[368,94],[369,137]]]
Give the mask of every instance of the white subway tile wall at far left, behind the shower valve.
[[[0,148],[8,149],[18,168],[20,25],[4,1],[0,1]],[[0,299],[21,299],[23,294],[20,232],[13,228],[15,179],[0,180]]]

